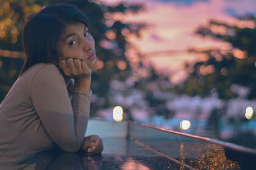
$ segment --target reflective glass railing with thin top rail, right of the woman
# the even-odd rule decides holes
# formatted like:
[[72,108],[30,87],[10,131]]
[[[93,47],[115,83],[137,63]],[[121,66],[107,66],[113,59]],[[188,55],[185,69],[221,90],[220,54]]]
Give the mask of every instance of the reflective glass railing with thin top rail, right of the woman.
[[164,157],[188,169],[250,169],[256,160],[251,148],[132,121],[90,120],[90,134],[103,138],[104,154]]

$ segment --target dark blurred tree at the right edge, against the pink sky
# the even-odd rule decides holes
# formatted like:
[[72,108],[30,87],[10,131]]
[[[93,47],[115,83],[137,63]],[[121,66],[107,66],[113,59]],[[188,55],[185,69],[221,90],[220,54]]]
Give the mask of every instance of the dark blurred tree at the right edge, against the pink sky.
[[218,95],[221,99],[256,98],[256,19],[246,15],[228,24],[211,20],[196,34],[230,43],[230,49],[195,50],[204,61],[186,63],[188,78],[175,91],[191,96]]

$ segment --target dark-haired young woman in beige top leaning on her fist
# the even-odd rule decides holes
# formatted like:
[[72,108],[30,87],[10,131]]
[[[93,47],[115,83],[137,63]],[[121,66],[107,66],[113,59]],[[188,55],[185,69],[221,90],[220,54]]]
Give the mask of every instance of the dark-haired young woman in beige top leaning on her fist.
[[97,135],[84,137],[97,63],[88,19],[74,6],[51,5],[28,19],[22,35],[24,66],[0,105],[0,164],[55,146],[101,153]]

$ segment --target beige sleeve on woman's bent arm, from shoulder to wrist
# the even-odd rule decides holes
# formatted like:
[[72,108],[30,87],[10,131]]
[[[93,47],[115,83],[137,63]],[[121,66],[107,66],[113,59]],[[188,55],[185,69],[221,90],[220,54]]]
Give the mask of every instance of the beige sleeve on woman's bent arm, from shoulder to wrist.
[[31,103],[45,130],[64,151],[77,151],[83,141],[92,92],[73,90],[72,101],[60,71],[45,65],[31,82]]

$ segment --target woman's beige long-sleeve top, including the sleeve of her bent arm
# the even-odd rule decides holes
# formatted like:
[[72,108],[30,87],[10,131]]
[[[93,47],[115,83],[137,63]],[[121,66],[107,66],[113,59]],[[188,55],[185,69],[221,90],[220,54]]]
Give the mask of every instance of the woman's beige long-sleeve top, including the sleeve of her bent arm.
[[29,68],[0,105],[0,164],[22,162],[56,144],[64,151],[79,150],[91,94],[67,88],[55,65]]

